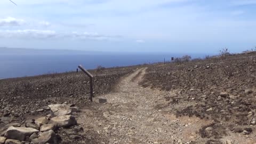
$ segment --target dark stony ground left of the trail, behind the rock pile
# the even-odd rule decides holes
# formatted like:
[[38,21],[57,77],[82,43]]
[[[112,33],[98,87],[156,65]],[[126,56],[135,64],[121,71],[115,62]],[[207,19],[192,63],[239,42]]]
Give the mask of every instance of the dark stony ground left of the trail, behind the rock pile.
[[[133,67],[91,71],[94,95],[109,93],[119,79]],[[54,103],[89,103],[89,78],[82,73],[49,74],[0,80],[0,128],[10,122],[23,122],[29,115],[46,115],[45,107]]]

